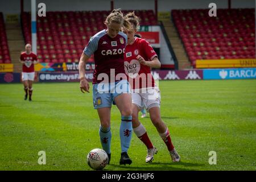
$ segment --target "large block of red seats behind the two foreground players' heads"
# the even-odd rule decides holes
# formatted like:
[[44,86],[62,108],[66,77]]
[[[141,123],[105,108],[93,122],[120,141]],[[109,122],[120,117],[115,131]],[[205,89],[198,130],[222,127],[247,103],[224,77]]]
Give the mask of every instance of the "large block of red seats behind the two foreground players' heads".
[[[123,11],[127,13],[128,10]],[[38,57],[43,63],[78,62],[90,36],[105,28],[104,20],[109,11],[52,11],[38,17]],[[138,10],[141,25],[158,24],[154,11]],[[31,15],[21,15],[23,35],[31,43]],[[93,61],[93,57],[89,61]]]

